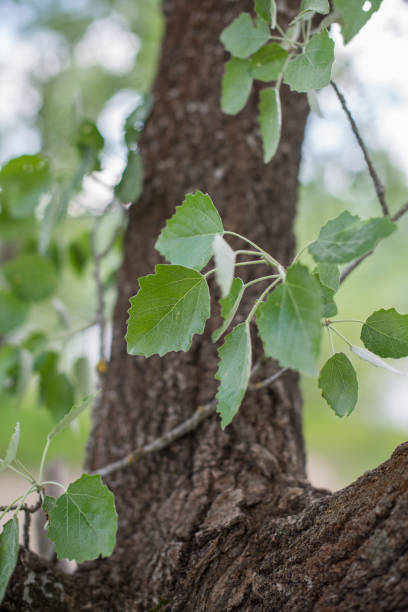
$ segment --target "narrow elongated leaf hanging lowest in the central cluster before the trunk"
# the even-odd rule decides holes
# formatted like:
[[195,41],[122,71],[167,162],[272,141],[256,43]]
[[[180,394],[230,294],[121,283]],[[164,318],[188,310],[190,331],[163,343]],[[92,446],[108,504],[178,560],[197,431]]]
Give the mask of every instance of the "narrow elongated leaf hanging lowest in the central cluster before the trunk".
[[215,378],[221,382],[216,395],[217,412],[225,429],[238,412],[251,375],[251,336],[247,322],[240,323],[218,350],[220,364]]

